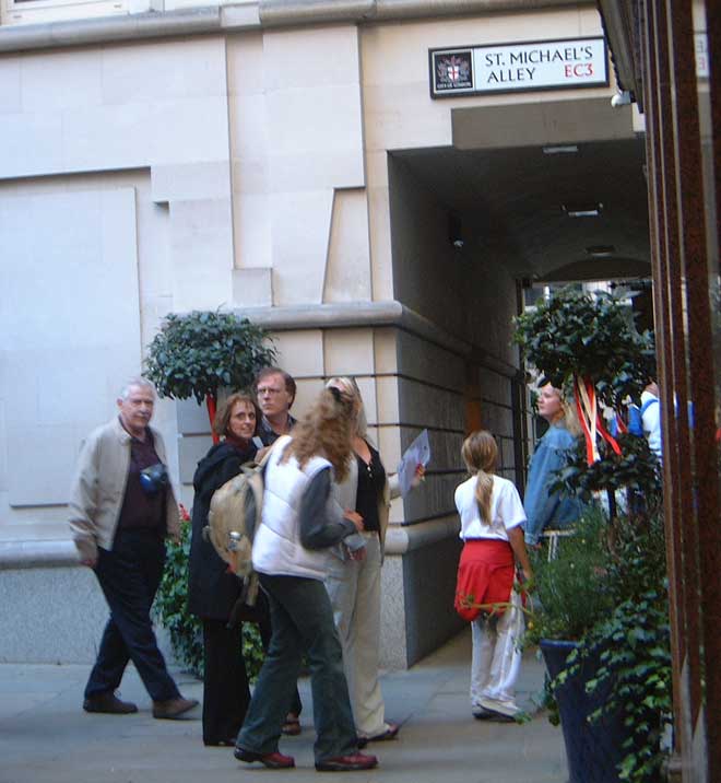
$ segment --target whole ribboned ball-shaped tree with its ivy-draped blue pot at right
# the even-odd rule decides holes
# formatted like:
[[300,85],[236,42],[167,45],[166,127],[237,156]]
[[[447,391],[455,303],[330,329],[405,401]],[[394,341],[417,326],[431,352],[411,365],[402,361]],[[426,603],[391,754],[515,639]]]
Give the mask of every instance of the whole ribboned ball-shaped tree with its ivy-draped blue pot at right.
[[566,289],[517,318],[516,342],[542,383],[570,390],[584,437],[558,483],[588,501],[628,494],[623,514],[584,518],[558,557],[536,563],[541,608],[529,623],[551,674],[571,783],[658,780],[671,720],[661,492],[645,439],[611,435],[652,370],[652,341],[624,303]]

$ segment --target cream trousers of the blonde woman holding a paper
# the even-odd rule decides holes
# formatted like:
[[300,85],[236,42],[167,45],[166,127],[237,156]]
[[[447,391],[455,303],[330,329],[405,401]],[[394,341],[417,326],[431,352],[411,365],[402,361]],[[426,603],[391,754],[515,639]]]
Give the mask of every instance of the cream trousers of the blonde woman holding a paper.
[[386,724],[383,697],[378,681],[380,645],[380,541],[364,534],[364,560],[333,559],[326,588],[333,606],[343,645],[343,665],[358,735],[375,737]]

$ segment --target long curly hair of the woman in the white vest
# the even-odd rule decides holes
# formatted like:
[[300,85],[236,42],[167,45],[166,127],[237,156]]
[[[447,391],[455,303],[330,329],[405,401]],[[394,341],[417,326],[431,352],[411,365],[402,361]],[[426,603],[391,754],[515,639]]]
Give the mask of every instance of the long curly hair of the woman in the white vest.
[[343,481],[353,453],[354,409],[355,400],[350,394],[324,388],[293,428],[293,440],[281,461],[294,456],[304,468],[312,457],[324,457],[333,466],[335,481]]

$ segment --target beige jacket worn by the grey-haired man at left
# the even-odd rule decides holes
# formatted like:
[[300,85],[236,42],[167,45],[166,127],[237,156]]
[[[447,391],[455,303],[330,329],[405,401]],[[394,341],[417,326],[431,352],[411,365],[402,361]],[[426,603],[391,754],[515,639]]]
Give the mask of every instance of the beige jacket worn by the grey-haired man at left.
[[[157,430],[151,428],[151,431],[155,452],[161,461],[166,463],[163,437]],[[129,468],[130,434],[115,417],[87,436],[72,482],[69,523],[81,560],[95,560],[98,547],[113,549]],[[169,483],[165,507],[167,535],[177,538],[180,519]]]

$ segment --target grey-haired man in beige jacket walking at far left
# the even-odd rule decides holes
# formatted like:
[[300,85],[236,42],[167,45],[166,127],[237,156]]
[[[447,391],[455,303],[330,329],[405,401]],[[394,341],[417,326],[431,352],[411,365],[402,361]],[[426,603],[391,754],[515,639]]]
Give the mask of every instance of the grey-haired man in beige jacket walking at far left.
[[179,534],[165,447],[150,426],[154,405],[153,385],[133,378],[118,398],[118,416],[87,437],[72,486],[70,527],[80,560],[95,571],[110,608],[83,709],[138,712],[115,694],[132,661],[153,700],[153,716],[173,720],[198,702],[180,696],[150,619],[165,538]]

